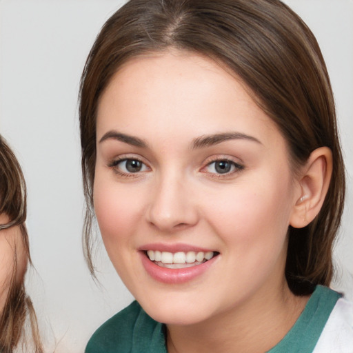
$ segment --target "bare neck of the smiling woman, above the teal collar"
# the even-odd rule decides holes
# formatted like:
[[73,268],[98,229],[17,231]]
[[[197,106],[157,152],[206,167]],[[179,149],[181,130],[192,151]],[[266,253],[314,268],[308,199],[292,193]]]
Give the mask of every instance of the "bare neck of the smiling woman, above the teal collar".
[[168,352],[266,352],[287,334],[308,299],[294,296],[284,281],[276,296],[260,291],[201,323],[167,325]]

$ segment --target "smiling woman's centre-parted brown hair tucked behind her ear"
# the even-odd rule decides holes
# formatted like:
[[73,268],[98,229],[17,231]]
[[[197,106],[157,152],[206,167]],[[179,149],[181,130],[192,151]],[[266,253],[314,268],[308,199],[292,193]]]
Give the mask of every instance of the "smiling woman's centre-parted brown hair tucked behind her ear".
[[130,0],[108,19],[85,63],[80,90],[82,171],[87,211],[83,248],[92,274],[92,187],[99,97],[121,65],[177,48],[221,63],[246,83],[288,143],[293,170],[327,146],[333,174],[316,219],[291,228],[285,274],[295,294],[332,279],[332,245],[343,212],[345,175],[334,99],[314,34],[279,0]]

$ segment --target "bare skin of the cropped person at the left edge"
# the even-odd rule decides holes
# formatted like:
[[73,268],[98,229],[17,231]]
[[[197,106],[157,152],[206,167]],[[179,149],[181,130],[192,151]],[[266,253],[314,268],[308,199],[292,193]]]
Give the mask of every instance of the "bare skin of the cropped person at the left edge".
[[[6,214],[0,214],[0,224],[6,224],[8,221]],[[14,249],[17,252],[16,281],[20,283],[27,270],[28,258],[18,226],[0,231],[0,312],[3,310],[10,289],[10,279],[14,270]]]

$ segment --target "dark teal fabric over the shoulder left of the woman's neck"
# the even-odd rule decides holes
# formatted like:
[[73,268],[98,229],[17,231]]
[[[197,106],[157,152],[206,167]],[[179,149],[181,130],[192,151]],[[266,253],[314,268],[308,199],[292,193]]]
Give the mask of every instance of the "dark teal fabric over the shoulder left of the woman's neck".
[[[144,347],[142,351],[141,346]],[[85,353],[147,353],[164,352],[163,349],[163,325],[134,301],[94,332]]]

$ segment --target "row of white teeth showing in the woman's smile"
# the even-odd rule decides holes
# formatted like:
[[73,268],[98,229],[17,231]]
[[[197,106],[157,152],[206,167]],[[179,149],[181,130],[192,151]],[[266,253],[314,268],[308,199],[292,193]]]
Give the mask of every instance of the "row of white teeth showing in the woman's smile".
[[148,257],[151,261],[161,262],[165,264],[183,264],[183,263],[203,263],[212,259],[214,252],[160,252],[158,250],[148,250]]

